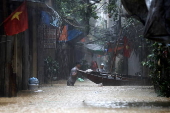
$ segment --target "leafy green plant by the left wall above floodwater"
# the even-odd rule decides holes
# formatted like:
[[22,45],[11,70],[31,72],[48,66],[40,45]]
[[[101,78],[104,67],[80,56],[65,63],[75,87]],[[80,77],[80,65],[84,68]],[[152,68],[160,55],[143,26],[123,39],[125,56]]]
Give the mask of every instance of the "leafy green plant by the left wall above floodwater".
[[57,79],[57,75],[59,72],[59,63],[52,59],[52,57],[48,56],[45,60],[45,74],[47,78],[50,78],[51,80],[51,85],[52,85],[52,80]]

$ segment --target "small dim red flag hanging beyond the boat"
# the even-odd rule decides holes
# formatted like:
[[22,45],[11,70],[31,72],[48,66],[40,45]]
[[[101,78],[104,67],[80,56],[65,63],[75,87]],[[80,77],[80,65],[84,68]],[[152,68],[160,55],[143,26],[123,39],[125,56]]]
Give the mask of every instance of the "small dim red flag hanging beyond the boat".
[[129,58],[130,54],[131,54],[131,48],[129,46],[127,37],[124,37],[123,41],[124,41],[123,54],[124,54],[125,57]]

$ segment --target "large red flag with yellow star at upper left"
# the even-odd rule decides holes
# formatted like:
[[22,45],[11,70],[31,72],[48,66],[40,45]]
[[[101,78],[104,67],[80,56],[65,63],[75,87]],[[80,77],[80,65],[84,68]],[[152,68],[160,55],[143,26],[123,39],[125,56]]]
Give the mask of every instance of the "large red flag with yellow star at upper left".
[[4,21],[6,35],[15,35],[28,29],[28,14],[26,2],[23,2],[8,18]]

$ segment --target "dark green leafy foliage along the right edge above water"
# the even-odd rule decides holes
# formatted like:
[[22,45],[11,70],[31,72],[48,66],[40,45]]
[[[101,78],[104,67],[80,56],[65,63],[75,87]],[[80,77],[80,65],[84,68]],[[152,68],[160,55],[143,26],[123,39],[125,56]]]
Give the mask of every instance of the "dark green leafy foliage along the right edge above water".
[[149,67],[150,77],[158,96],[170,97],[169,47],[155,42],[152,44],[152,48],[152,54],[148,55],[148,60],[142,64]]

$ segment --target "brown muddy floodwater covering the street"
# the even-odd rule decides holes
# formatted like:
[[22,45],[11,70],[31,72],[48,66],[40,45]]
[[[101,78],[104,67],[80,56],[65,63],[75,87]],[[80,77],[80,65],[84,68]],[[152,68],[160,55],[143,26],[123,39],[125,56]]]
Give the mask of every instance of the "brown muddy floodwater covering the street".
[[0,98],[0,113],[170,113],[170,98],[152,86],[99,86],[88,80],[43,85],[17,97]]

